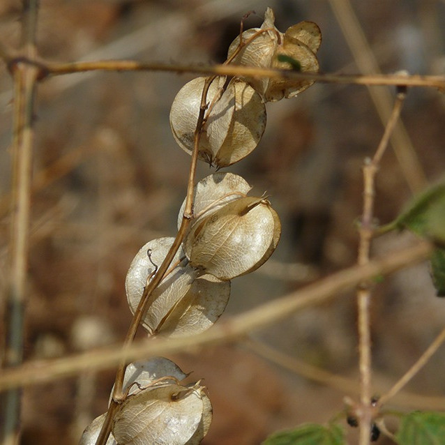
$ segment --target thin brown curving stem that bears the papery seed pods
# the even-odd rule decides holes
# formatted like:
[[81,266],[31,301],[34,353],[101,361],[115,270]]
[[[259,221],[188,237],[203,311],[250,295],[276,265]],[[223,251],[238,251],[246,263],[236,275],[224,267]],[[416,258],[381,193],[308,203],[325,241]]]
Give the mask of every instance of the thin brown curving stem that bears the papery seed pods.
[[[144,317],[146,311],[148,310],[149,305],[153,301],[151,299],[153,291],[156,289],[156,287],[158,287],[160,282],[163,280],[165,273],[167,272],[170,264],[173,261],[174,255],[176,255],[176,252],[178,251],[179,247],[181,246],[181,243],[183,242],[184,236],[186,236],[188,226],[190,225],[190,221],[193,218],[193,188],[195,186],[195,176],[196,176],[195,174],[196,174],[196,166],[199,153],[199,139],[202,134],[204,115],[207,109],[207,102],[206,102],[207,92],[209,91],[209,86],[211,82],[213,82],[214,78],[215,78],[214,76],[206,78],[204,82],[204,88],[202,90],[201,104],[199,107],[199,115],[195,129],[192,160],[190,162],[190,171],[188,174],[186,207],[184,209],[183,218],[181,221],[181,227],[179,227],[178,233],[176,234],[176,238],[173,241],[172,247],[167,252],[167,255],[162,264],[159,266],[158,271],[154,274],[149,284],[146,285],[146,287],[144,288],[141,300],[139,301],[139,305],[135,310],[133,320],[130,324],[130,328],[128,329],[126,338],[123,342],[122,349],[124,353],[133,342],[139,324],[142,318]],[[114,414],[116,413],[119,404],[121,404],[121,402],[123,402],[123,400],[125,399],[125,394],[123,391],[123,378],[125,376],[127,363],[128,363],[127,356],[123,354],[123,356],[121,357],[121,361],[119,362],[118,370],[116,372],[116,379],[114,382],[114,390],[112,393],[112,400],[110,402],[110,407],[107,411],[107,416],[105,417],[103,427],[100,430],[100,434],[96,441],[96,445],[105,445],[105,443],[107,442],[107,439],[110,436]]]

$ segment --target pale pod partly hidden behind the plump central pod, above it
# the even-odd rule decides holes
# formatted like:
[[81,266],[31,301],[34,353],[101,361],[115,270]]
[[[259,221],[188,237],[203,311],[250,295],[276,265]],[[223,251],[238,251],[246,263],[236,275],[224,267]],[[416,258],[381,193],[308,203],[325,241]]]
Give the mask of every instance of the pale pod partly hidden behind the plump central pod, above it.
[[[246,196],[252,187],[243,177],[233,173],[215,173],[201,179],[193,189],[193,218],[201,218],[218,210],[227,202]],[[181,226],[186,199],[178,215],[178,229]]]

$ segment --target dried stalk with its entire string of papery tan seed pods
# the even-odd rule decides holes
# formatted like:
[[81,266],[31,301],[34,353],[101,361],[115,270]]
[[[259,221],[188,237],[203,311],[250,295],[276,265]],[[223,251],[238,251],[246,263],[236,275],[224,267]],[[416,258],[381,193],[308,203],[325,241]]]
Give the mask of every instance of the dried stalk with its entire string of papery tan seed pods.
[[[299,70],[316,72],[320,42],[319,28],[312,22],[281,33],[268,8],[261,28],[244,31],[230,45],[226,63],[295,69],[292,63],[279,61],[284,54],[298,61]],[[196,160],[216,169],[232,165],[261,139],[265,104],[296,96],[311,83],[197,77],[174,98],[174,139],[192,155],[192,165]],[[280,239],[280,218],[271,202],[250,196],[250,188],[241,176],[229,172],[206,176],[179,210],[178,236],[153,239],[140,248],[126,277],[133,324],[137,320],[152,337],[177,338],[205,331],[218,320],[229,300],[230,280],[262,266]],[[80,445],[201,442],[212,416],[204,386],[182,384],[186,375],[162,357],[124,363],[123,368],[108,412],[86,428]]]

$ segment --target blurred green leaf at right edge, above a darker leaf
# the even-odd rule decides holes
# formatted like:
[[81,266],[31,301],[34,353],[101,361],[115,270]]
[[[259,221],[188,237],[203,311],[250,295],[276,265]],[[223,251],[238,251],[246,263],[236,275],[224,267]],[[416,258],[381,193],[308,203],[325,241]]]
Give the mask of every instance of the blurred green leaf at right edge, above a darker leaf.
[[426,190],[395,220],[399,229],[409,229],[438,243],[445,243],[445,181]]

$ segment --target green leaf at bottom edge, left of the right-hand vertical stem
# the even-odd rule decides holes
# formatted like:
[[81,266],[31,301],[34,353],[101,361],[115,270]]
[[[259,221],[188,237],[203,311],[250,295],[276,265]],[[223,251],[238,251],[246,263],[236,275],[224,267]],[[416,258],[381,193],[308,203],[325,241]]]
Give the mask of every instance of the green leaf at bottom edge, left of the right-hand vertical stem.
[[344,445],[339,425],[323,426],[305,423],[294,430],[280,431],[269,436],[262,445]]

